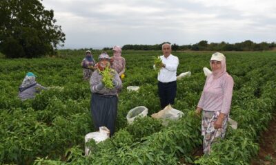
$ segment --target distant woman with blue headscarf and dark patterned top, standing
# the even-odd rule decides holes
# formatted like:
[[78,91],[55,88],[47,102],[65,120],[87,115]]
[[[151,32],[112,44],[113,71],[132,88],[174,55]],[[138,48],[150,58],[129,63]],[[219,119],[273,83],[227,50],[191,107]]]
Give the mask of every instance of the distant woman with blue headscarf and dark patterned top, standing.
[[81,61],[81,67],[83,67],[83,80],[90,80],[92,72],[95,69],[95,60],[90,52],[86,51],[86,58]]

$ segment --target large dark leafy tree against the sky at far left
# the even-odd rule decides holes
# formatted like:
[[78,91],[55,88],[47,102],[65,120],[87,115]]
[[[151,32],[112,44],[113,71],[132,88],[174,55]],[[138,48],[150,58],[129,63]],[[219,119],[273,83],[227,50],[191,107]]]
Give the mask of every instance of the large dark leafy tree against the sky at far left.
[[41,0],[1,0],[0,20],[0,52],[8,58],[54,54],[65,41],[54,11]]

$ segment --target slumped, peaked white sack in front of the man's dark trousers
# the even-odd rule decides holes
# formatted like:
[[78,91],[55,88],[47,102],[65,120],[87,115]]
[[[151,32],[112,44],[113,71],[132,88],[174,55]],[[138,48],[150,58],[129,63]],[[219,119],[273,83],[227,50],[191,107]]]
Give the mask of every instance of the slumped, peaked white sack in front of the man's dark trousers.
[[[181,118],[184,115],[183,112],[177,110],[177,109],[173,109],[172,106],[170,104],[168,104],[168,106],[166,106],[163,110],[157,112],[157,113],[153,113],[151,115],[152,118],[160,118],[160,119],[170,119],[170,120],[177,120],[179,118]],[[166,124],[166,123],[164,123]]]

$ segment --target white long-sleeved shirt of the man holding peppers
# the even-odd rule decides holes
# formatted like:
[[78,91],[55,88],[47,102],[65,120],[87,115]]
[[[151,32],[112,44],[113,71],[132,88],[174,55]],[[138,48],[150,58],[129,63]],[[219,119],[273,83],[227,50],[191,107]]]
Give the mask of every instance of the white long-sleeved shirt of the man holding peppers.
[[167,58],[164,55],[160,56],[160,58],[162,63],[165,64],[165,67],[160,69],[157,79],[161,83],[169,83],[177,80],[178,57],[170,54]]

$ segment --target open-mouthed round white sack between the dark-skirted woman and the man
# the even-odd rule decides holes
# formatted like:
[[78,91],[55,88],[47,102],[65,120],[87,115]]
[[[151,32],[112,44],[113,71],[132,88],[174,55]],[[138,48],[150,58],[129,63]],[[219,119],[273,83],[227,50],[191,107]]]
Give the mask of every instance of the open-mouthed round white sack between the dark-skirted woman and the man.
[[128,120],[128,124],[131,124],[138,116],[144,118],[146,115],[148,115],[148,109],[144,106],[139,106],[128,111],[128,115],[126,115],[126,120]]

